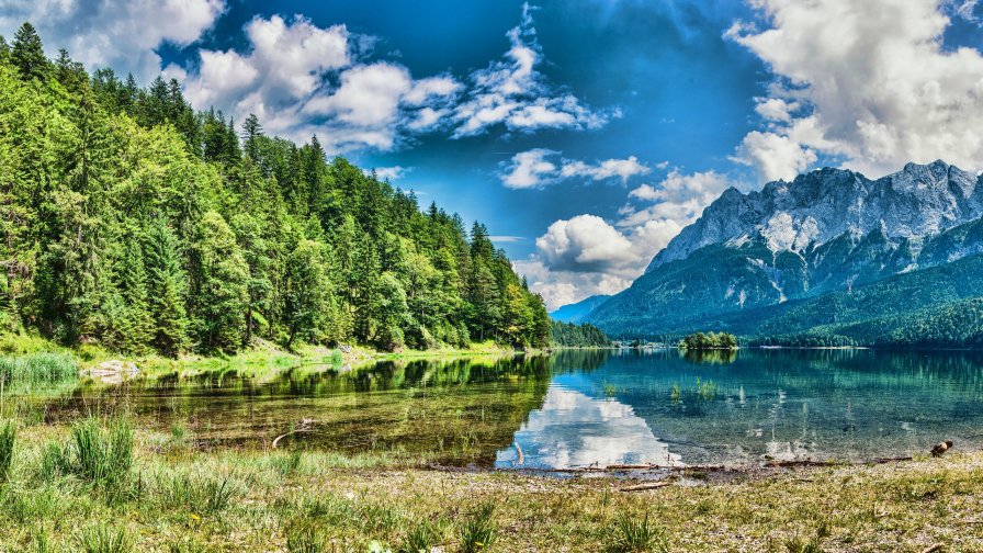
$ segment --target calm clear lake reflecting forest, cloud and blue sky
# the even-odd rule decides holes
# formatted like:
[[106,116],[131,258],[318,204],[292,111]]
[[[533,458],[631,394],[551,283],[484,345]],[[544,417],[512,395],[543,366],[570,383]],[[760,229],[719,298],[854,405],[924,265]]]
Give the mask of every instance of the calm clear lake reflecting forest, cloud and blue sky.
[[868,461],[983,444],[983,356],[873,350],[561,351],[86,382],[45,421],[132,416],[203,449],[426,453],[455,466]]

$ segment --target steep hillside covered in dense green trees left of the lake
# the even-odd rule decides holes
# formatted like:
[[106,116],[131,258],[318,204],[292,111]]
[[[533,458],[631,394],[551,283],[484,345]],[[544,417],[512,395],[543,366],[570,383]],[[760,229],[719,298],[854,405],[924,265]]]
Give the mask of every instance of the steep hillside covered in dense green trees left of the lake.
[[551,337],[483,225],[177,81],[46,59],[29,24],[0,38],[0,195],[8,330],[167,354]]

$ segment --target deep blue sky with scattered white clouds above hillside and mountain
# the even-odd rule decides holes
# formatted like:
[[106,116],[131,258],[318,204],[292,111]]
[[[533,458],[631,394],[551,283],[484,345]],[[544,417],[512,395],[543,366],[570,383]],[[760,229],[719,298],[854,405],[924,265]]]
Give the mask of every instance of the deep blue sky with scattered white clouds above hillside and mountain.
[[731,187],[983,170],[978,2],[0,0],[0,34],[316,135],[485,223],[552,309],[630,285]]

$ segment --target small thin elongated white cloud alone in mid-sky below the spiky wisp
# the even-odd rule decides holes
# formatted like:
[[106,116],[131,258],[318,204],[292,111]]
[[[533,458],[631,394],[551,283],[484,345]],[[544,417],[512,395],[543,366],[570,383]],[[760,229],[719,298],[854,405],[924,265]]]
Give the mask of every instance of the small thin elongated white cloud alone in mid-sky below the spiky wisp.
[[595,181],[620,179],[628,182],[632,177],[649,172],[639,158],[606,159],[598,163],[587,163],[561,157],[560,151],[535,148],[512,156],[499,174],[502,184],[512,189],[538,188],[562,179],[585,178]]

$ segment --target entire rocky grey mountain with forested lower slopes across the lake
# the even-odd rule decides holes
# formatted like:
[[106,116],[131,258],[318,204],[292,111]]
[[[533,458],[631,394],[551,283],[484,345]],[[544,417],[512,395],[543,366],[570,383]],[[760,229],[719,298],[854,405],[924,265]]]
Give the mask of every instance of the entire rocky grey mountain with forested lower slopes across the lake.
[[[964,345],[983,296],[983,179],[944,161],[877,180],[822,169],[724,192],[585,319],[614,337],[728,330],[781,343]],[[917,314],[934,321],[903,331]],[[980,323],[969,319],[979,334]],[[970,332],[972,334],[972,332]]]

